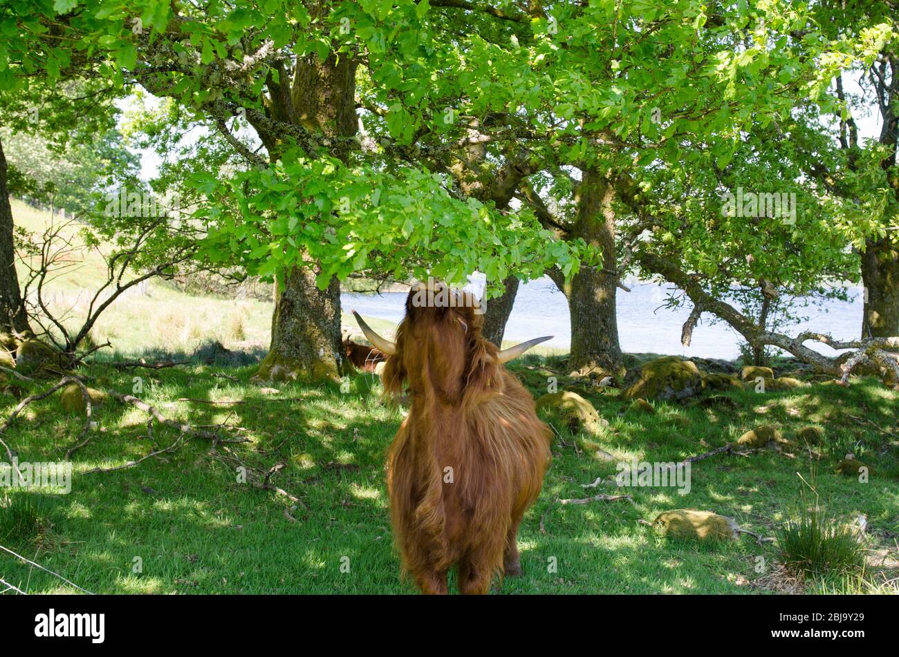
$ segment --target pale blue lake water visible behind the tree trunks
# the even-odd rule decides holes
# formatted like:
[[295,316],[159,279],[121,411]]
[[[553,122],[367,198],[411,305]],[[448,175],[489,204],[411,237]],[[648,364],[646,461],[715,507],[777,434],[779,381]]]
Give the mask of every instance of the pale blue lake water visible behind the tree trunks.
[[[482,284],[483,285],[483,284]],[[470,286],[476,292],[481,289],[475,281]],[[739,355],[739,334],[724,322],[712,324],[706,313],[702,322],[693,330],[689,347],[681,346],[681,327],[690,315],[689,308],[660,308],[665,298],[674,291],[671,285],[635,283],[628,285],[630,292],[619,289],[617,294],[619,341],[621,349],[629,353],[652,352],[656,354],[696,356],[700,358],[734,359]],[[801,309],[808,316],[807,322],[784,329],[789,335],[803,330],[830,333],[836,339],[855,339],[861,333],[862,288],[849,290],[850,302],[828,301],[820,306]],[[342,293],[345,311],[399,322],[405,312],[406,293]],[[530,337],[555,336],[546,346],[568,349],[571,346],[571,323],[568,319],[568,302],[556,285],[548,278],[530,281],[519,286],[512,314],[506,324],[506,340],[525,340]],[[825,355],[838,352],[829,346],[807,343]]]

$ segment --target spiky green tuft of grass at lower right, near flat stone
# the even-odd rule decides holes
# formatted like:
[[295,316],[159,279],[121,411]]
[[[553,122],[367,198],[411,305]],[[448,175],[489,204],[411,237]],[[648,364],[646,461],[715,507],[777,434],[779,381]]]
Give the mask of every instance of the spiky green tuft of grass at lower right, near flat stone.
[[851,576],[864,566],[864,548],[855,531],[817,499],[811,507],[800,504],[777,534],[781,562],[793,574]]

